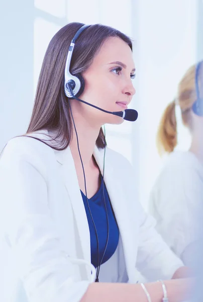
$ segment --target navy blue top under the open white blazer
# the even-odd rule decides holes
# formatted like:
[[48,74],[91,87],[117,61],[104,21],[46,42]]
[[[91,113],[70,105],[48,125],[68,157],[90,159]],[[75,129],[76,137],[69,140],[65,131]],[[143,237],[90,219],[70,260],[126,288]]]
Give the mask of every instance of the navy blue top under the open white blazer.
[[[102,176],[100,177],[101,177],[101,184],[99,190],[96,192],[94,196],[88,199],[89,208],[96,226],[96,232],[98,236],[99,263],[105,251],[105,247],[107,244],[107,235],[108,235],[107,214],[106,214],[106,208],[105,208],[104,197],[103,197],[103,177]],[[83,194],[81,190],[80,192],[82,195],[82,199],[87,215],[87,220],[89,224],[91,263],[96,268],[98,263],[98,254],[97,254],[95,229],[89,213],[86,196]],[[109,242],[102,263],[105,263],[107,260],[109,260],[112,257],[112,255],[117,249],[118,242],[119,242],[119,228],[114,215],[114,211],[111,205],[111,201],[109,198],[109,194],[107,192],[105,182],[104,182],[104,196],[105,196],[107,212],[109,217]]]

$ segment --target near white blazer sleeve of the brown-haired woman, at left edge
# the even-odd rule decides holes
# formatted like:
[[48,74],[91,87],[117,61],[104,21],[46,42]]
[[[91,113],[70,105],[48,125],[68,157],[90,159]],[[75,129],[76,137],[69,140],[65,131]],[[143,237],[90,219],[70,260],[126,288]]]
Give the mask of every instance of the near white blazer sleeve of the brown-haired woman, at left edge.
[[0,215],[29,301],[78,302],[89,281],[76,279],[49,213],[47,185],[26,159],[0,161]]

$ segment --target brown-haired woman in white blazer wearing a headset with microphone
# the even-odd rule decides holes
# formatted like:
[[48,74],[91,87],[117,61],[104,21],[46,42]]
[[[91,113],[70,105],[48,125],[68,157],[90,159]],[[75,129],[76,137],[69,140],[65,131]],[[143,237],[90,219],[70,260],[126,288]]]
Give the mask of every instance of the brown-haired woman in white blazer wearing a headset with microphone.
[[[137,118],[127,109],[134,77],[132,42],[118,30],[70,23],[50,41],[27,133],[11,139],[0,160],[9,248],[1,274],[10,284],[2,300],[185,297],[188,269],[134,199],[131,165],[106,147],[101,128]],[[168,280],[136,284],[138,270]]]

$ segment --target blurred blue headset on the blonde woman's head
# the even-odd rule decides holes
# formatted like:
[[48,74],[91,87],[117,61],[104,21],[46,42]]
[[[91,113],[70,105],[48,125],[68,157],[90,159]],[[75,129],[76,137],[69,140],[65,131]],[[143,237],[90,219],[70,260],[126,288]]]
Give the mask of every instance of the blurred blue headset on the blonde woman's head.
[[[197,116],[203,116],[203,99],[200,98],[198,79],[200,78],[199,69],[201,68],[202,61],[198,62],[195,69],[195,91],[196,101],[192,105],[192,111]],[[201,71],[203,73],[203,70]],[[200,78],[202,79],[202,78]]]

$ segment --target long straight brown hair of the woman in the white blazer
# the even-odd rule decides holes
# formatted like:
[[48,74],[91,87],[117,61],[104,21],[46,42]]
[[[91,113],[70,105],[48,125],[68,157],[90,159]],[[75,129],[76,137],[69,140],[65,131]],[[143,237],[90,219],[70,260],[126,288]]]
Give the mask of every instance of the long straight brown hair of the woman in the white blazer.
[[[69,23],[51,39],[42,63],[32,117],[26,132],[30,134],[43,129],[56,131],[56,138],[60,137],[61,143],[59,147],[52,147],[57,150],[65,149],[72,138],[69,102],[64,93],[64,69],[71,39],[82,25],[76,22]],[[101,24],[91,25],[81,33],[75,43],[70,72],[82,74],[109,37],[121,38],[132,50],[131,39],[120,31]],[[96,145],[100,148],[106,145],[102,128]]]

